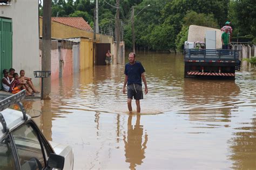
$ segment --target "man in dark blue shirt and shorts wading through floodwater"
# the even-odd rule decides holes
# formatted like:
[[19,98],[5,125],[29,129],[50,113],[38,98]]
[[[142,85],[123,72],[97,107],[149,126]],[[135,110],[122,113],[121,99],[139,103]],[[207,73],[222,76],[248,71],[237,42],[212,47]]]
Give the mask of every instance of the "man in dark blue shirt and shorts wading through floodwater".
[[137,112],[140,112],[140,103],[139,100],[143,99],[142,91],[142,80],[145,86],[145,94],[147,94],[147,82],[144,75],[145,69],[142,66],[142,63],[135,61],[135,54],[129,54],[129,63],[125,65],[125,79],[123,94],[125,94],[125,86],[127,83],[127,105],[128,109],[132,111],[132,97],[136,100]]

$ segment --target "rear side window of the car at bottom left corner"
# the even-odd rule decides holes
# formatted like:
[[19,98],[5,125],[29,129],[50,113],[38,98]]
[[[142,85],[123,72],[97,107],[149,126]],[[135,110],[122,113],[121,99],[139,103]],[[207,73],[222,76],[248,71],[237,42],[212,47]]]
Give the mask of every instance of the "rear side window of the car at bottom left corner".
[[16,169],[14,155],[12,153],[9,138],[2,140],[0,143],[0,169],[1,170]]

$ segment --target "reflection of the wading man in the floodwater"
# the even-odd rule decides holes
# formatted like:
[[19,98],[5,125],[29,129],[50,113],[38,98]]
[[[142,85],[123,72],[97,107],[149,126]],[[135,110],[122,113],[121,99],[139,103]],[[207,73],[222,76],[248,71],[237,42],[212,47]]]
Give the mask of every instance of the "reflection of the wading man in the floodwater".
[[127,140],[126,136],[123,136],[125,143],[125,161],[130,163],[130,169],[135,169],[137,165],[142,165],[148,139],[146,133],[143,142],[143,125],[140,125],[140,115],[137,114],[136,117],[136,124],[133,126],[132,115],[129,115],[127,122]]

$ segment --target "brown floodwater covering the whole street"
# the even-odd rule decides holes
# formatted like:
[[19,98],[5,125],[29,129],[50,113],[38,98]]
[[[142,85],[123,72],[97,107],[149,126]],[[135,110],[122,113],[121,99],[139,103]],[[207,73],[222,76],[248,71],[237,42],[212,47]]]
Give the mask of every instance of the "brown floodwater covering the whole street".
[[141,114],[127,112],[123,65],[63,77],[51,101],[24,102],[48,140],[73,147],[74,169],[255,169],[256,72],[184,80],[181,55],[136,60],[149,88]]

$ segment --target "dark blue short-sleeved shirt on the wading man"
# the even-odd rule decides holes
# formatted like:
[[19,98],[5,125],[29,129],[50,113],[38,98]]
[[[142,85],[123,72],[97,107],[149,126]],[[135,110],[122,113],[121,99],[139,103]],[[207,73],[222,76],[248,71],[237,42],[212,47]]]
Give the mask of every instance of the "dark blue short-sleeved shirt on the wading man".
[[135,61],[133,65],[126,63],[124,74],[128,76],[127,84],[140,84],[142,86],[142,73],[145,72],[145,69],[142,66],[142,63]]

